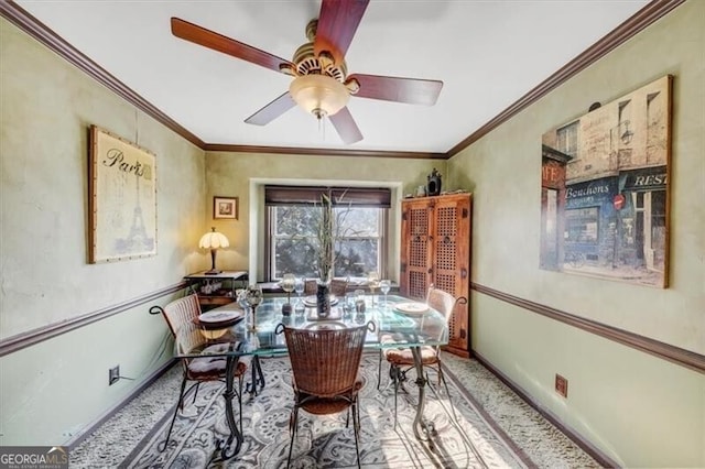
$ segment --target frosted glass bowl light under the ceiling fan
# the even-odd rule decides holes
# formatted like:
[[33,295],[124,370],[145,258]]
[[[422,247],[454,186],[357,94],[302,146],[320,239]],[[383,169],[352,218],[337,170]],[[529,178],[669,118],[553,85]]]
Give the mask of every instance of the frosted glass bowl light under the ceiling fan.
[[294,78],[289,92],[296,105],[321,119],[343,109],[350,99],[348,89],[326,75],[304,75]]

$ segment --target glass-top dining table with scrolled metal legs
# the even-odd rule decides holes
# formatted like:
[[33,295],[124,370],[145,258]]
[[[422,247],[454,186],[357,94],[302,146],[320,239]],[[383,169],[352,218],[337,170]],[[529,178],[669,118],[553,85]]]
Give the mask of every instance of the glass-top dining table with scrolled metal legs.
[[[193,359],[199,357],[224,356],[227,358],[226,412],[231,435],[221,447],[223,459],[228,459],[239,451],[242,443],[241,429],[237,428],[232,418],[232,373],[241,357],[253,357],[251,381],[247,392],[257,394],[264,386],[264,373],[259,357],[286,356],[288,349],[281,326],[307,329],[330,329],[357,327],[371,323],[367,334],[365,349],[381,350],[386,348],[409,348],[414,357],[419,400],[413,430],[416,438],[429,439],[429,427],[423,418],[426,373],[423,371],[421,347],[444,346],[448,342],[448,326],[445,317],[425,303],[415,302],[397,295],[365,295],[364,312],[357,312],[356,297],[332,301],[330,314],[321,318],[316,314],[313,297],[292,297],[292,305],[304,303],[303,314],[282,315],[282,307],[290,302],[286,297],[265,297],[252,308],[247,305],[231,303],[204,313],[193,323],[185,324],[176,331],[176,358]],[[358,296],[357,299],[360,299]],[[301,305],[300,305],[301,306]],[[210,347],[213,345],[227,347]],[[232,445],[235,443],[235,446]]]

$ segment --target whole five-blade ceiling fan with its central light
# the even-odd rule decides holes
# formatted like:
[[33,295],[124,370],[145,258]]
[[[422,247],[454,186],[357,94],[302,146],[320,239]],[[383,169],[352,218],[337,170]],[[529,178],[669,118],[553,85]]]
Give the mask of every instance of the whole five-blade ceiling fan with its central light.
[[317,119],[327,117],[343,142],[350,144],[362,140],[362,133],[347,108],[350,96],[433,106],[443,87],[443,81],[438,80],[347,74],[345,53],[368,3],[369,0],[323,0],[318,19],[306,26],[308,42],[296,50],[292,61],[178,18],[171,20],[172,34],[294,77],[289,91],[245,122],[264,126],[299,105]]

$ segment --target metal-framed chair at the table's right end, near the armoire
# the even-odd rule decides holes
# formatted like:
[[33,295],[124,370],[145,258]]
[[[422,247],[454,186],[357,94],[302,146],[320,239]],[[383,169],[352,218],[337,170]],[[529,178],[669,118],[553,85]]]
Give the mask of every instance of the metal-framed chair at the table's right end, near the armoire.
[[[440,312],[444,318],[446,325],[449,324],[451,317],[453,316],[453,312],[455,306],[460,304],[464,305],[467,303],[467,298],[465,296],[455,297],[452,294],[444,292],[443,290],[436,288],[433,285],[429,286],[426,292],[426,304],[432,308]],[[384,337],[380,338],[380,341],[384,341]],[[445,381],[445,377],[443,375],[443,363],[441,361],[441,347],[440,346],[423,346],[420,350],[421,362],[423,363],[424,370],[430,368],[436,372],[438,385],[443,384],[445,388],[445,393],[449,397],[448,384]],[[389,375],[392,380],[392,385],[394,388],[394,425],[397,425],[397,397],[399,395],[399,388],[402,385],[404,381],[406,381],[406,372],[414,368],[414,357],[409,348],[391,348],[383,349],[380,353],[380,363],[379,363],[379,375],[377,381],[377,388],[380,388],[381,383],[381,370],[382,370],[382,356],[389,362]],[[435,392],[435,391],[434,391]],[[453,405],[453,401],[448,399],[451,403],[451,410],[453,411],[453,416],[457,421],[457,416],[455,415],[455,408]]]

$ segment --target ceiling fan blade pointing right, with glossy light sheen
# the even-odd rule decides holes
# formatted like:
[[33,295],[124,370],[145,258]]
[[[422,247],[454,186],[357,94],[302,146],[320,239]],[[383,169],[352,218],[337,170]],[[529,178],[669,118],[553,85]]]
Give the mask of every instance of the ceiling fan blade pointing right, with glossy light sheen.
[[360,84],[359,98],[381,99],[384,101],[406,102],[409,105],[433,106],[438,99],[443,81],[433,79],[386,77],[380,75],[355,74]]

